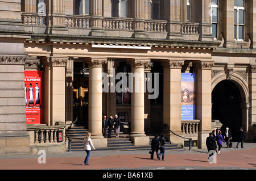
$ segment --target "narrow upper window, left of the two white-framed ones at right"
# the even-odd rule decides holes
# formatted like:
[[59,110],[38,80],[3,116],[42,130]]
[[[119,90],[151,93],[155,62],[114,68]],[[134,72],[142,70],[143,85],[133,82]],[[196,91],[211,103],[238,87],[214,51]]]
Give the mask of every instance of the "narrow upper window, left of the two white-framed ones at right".
[[218,30],[218,0],[212,0],[211,3],[211,18],[212,18],[212,36],[217,39]]

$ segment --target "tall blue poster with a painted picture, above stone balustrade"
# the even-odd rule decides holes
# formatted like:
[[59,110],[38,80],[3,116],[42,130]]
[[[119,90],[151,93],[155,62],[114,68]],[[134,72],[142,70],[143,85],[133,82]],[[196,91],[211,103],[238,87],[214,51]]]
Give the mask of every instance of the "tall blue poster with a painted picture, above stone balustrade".
[[181,73],[181,120],[195,120],[196,74]]

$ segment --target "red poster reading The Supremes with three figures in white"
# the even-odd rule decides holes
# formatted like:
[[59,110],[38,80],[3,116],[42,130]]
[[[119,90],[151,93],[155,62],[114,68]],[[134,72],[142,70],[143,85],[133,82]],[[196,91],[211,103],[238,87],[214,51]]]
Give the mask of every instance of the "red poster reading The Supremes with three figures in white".
[[24,71],[27,124],[41,124],[43,119],[43,71]]

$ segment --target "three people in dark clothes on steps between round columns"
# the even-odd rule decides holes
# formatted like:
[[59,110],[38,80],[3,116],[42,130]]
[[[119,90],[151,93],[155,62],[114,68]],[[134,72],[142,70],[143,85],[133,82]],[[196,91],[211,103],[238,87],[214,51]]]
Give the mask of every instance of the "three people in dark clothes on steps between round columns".
[[120,119],[117,115],[115,115],[115,118],[113,119],[112,116],[107,119],[107,117],[104,115],[102,118],[102,134],[104,137],[106,137],[106,131],[108,129],[108,137],[111,138],[112,130],[114,126],[114,133],[115,137],[119,137],[120,133]]

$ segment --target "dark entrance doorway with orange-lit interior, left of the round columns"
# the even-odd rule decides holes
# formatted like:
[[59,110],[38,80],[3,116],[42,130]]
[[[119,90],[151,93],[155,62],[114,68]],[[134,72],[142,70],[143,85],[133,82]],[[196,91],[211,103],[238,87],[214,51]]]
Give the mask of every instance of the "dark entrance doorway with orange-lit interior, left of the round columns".
[[83,62],[74,62],[74,120],[88,128],[89,77]]

